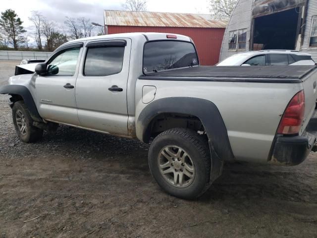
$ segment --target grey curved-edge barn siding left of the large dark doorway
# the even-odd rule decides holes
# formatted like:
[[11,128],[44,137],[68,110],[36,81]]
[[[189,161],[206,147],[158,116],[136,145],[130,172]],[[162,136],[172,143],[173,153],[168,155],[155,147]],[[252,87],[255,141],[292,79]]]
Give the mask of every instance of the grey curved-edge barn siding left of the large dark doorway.
[[228,26],[223,36],[221,52],[220,52],[220,61],[226,59],[229,56],[232,56],[233,54],[241,53],[241,51],[228,50],[230,31],[246,28],[247,29],[246,50],[248,51],[250,49],[249,41],[250,41],[251,22],[252,22],[252,0],[239,0],[232,12],[231,18],[229,20]]

